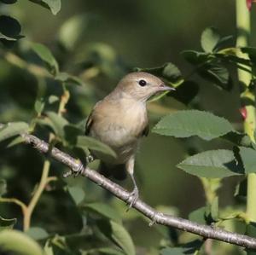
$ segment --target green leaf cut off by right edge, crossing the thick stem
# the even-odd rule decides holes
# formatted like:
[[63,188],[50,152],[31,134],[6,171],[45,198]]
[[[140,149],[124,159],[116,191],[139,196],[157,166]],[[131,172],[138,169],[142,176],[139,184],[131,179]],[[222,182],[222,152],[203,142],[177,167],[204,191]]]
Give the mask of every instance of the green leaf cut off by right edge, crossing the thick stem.
[[256,172],[256,150],[253,148],[239,147],[239,154],[245,173]]

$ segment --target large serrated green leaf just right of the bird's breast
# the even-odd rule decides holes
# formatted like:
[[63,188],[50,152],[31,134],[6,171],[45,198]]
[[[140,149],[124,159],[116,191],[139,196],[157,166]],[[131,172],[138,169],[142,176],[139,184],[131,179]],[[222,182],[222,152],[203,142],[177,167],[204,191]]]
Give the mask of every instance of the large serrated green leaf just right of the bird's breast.
[[198,110],[178,111],[165,116],[153,132],[165,136],[200,136],[207,141],[234,131],[230,122],[212,113]]

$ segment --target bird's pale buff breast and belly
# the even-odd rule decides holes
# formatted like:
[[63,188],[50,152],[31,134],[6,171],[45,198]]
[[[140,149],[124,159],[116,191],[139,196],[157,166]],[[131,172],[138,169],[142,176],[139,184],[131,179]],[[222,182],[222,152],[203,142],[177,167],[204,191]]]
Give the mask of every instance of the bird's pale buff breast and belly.
[[139,137],[148,123],[147,110],[141,103],[123,101],[102,108],[96,115],[91,136],[114,150],[131,151],[137,148]]

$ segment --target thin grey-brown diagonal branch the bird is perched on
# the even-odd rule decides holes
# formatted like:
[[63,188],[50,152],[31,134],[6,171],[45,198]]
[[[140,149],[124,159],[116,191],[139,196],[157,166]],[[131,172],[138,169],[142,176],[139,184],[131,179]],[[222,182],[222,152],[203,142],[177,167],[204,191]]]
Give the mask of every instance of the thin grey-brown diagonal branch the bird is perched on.
[[[91,170],[89,167],[84,167],[77,159],[73,159],[68,154],[61,152],[58,148],[52,148],[49,151],[49,144],[44,142],[36,136],[22,134],[25,142],[31,144],[34,148],[38,149],[43,154],[49,154],[52,158],[67,165],[72,169],[73,173],[80,173],[84,177],[88,177],[90,181],[107,189],[113,195],[120,200],[127,201],[130,198],[130,193],[118,184],[113,183],[108,178],[103,177],[96,171]],[[249,249],[256,250],[256,239],[247,235],[240,235],[226,231],[224,229],[212,228],[211,226],[194,223],[181,217],[174,217],[171,215],[163,214],[155,211],[151,206],[148,206],[142,200],[137,200],[133,205],[138,212],[143,213],[144,216],[151,219],[152,223],[159,223],[183,231],[193,233],[195,235],[201,235],[204,238],[215,239],[218,241],[228,242],[237,246],[244,246]]]

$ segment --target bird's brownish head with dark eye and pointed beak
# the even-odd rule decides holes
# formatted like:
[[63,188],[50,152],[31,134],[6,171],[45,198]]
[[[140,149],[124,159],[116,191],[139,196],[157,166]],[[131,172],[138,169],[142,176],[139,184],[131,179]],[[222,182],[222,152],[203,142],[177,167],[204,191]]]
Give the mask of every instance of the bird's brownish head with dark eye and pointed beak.
[[160,78],[148,72],[131,72],[119,81],[117,90],[133,97],[137,101],[147,101],[160,91],[175,90],[166,86]]

